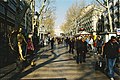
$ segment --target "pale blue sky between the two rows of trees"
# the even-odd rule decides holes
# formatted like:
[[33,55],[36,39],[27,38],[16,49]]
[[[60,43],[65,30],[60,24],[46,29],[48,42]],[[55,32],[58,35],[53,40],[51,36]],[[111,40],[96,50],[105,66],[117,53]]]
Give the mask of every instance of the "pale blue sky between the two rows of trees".
[[[77,0],[77,1],[81,2],[81,0]],[[91,3],[91,1],[93,1],[93,0],[85,0],[85,4],[88,5]],[[61,24],[65,21],[67,10],[75,2],[76,2],[76,0],[56,0],[56,2],[55,2],[55,6],[56,6],[55,28],[59,28],[61,26]],[[39,5],[38,0],[36,0],[36,4]],[[36,10],[38,10],[38,8]]]

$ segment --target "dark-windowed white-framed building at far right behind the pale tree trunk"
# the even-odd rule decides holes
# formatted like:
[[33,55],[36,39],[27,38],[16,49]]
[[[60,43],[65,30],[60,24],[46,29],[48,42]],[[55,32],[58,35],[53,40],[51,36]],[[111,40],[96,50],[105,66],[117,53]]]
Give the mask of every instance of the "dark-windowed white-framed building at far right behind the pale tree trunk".
[[[119,0],[109,0],[110,16],[112,18],[113,32],[116,32],[117,28],[120,28],[120,1]],[[102,16],[99,18],[98,22],[98,34],[104,32],[110,32],[108,11],[105,10]]]

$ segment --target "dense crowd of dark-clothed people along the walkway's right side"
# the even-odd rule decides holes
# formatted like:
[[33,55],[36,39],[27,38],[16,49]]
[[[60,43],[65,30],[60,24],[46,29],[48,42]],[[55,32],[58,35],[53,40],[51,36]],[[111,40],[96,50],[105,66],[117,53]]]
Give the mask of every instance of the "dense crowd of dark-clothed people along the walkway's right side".
[[65,38],[66,47],[69,47],[68,52],[74,53],[76,51],[77,64],[86,62],[86,54],[88,52],[97,53],[100,55],[105,62],[106,69],[108,70],[108,76],[111,80],[114,80],[114,70],[115,66],[118,66],[119,57],[120,57],[120,37],[112,36],[108,42],[104,42],[101,36],[97,36],[97,39],[94,40],[91,36],[79,36]]

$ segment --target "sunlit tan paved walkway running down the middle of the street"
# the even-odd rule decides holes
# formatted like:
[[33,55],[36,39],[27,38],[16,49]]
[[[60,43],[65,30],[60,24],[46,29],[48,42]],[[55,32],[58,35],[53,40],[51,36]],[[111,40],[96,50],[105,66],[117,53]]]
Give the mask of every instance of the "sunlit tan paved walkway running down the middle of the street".
[[[109,80],[105,74],[94,70],[93,56],[87,55],[86,63],[82,64],[76,64],[73,56],[73,54],[68,53],[66,48],[62,46],[57,46],[53,52],[50,50],[44,51],[38,55],[36,66],[34,68],[28,66],[17,76],[17,79]],[[119,77],[118,80],[120,80]]]

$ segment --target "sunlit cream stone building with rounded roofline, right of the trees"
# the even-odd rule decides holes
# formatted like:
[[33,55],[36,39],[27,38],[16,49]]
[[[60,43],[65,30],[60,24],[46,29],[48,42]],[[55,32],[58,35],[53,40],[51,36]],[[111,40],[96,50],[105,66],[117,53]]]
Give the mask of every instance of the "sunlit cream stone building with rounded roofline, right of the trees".
[[80,16],[77,17],[75,24],[71,26],[67,35],[76,35],[81,29],[96,35],[97,22],[99,17],[102,15],[103,9],[91,4],[83,7],[80,12]]

